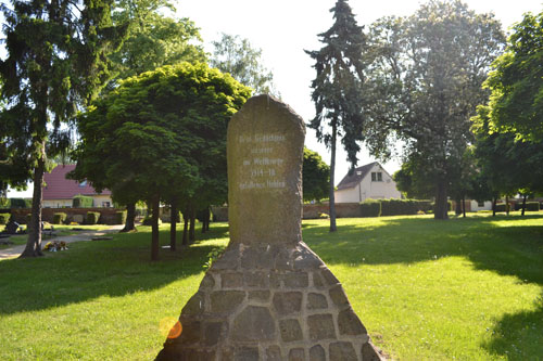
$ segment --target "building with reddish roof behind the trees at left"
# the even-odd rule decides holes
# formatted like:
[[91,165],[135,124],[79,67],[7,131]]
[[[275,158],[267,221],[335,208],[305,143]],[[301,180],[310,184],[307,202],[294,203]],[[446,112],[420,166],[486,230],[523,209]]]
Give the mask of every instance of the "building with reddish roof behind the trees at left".
[[54,167],[50,173],[43,175],[46,183],[42,188],[45,208],[72,207],[72,199],[78,194],[92,197],[93,207],[113,207],[110,190],[97,193],[92,186],[87,184],[87,181],[77,182],[66,179],[66,175],[74,169],[75,165],[60,165]]

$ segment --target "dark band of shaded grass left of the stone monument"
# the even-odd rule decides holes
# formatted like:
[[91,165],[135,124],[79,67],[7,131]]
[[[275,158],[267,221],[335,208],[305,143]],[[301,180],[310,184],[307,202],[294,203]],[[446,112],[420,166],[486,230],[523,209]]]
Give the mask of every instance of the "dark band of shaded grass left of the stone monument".
[[[178,233],[178,235],[181,232]],[[115,234],[112,241],[77,242],[68,250],[35,259],[0,261],[0,314],[35,311],[99,296],[123,296],[160,288],[203,271],[207,254],[218,247],[202,240],[224,238],[227,225],[197,233],[197,243],[177,252],[161,249],[151,262],[151,234]],[[169,232],[161,231],[161,245]],[[178,245],[180,242],[178,241]]]

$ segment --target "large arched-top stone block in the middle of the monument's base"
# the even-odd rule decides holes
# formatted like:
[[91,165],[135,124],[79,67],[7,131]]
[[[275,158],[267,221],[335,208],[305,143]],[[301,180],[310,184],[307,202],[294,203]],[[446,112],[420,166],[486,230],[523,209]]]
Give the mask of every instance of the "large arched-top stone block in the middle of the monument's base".
[[275,321],[266,307],[248,306],[233,320],[232,338],[238,341],[274,340]]

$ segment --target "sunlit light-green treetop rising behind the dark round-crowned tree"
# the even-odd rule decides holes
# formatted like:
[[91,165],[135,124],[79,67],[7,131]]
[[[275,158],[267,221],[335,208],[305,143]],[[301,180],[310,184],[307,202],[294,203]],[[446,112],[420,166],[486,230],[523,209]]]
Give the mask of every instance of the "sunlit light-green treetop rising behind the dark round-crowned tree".
[[205,62],[199,28],[187,17],[174,18],[165,14],[175,12],[168,0],[118,0],[113,21],[130,24],[129,35],[121,49],[110,59],[119,79],[154,70],[180,62]]

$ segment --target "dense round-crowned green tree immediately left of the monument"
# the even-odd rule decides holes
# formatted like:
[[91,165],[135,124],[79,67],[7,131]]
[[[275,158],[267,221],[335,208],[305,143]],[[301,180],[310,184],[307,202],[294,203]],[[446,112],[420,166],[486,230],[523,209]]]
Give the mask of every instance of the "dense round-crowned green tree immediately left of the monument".
[[102,169],[102,186],[151,204],[151,259],[159,257],[161,199],[199,199],[215,166],[226,182],[227,124],[249,94],[229,75],[181,63],[123,81],[80,118],[76,171],[94,185]]

